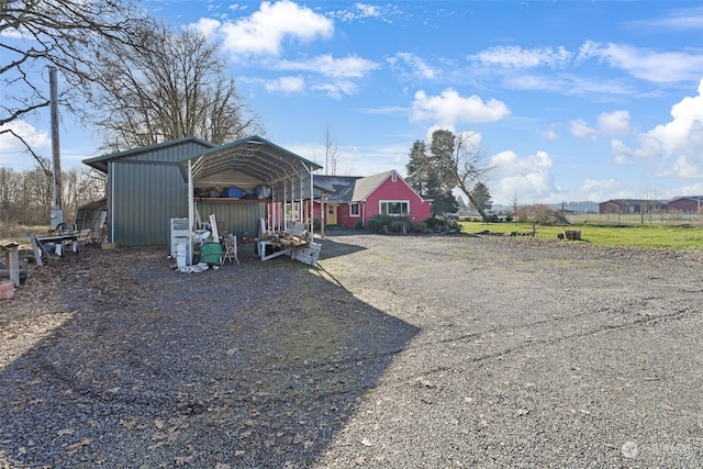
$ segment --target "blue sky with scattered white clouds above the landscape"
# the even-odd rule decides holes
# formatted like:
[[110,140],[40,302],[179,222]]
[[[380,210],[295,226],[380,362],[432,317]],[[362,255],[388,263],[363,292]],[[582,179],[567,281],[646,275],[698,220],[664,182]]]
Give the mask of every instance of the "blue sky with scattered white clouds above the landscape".
[[[702,2],[143,5],[220,45],[264,137],[324,165],[330,135],[339,176],[405,176],[447,129],[472,136],[499,204],[703,194]],[[12,125],[51,158],[45,114]],[[59,141],[64,169],[100,155],[63,114]],[[34,160],[0,137],[0,166]]]

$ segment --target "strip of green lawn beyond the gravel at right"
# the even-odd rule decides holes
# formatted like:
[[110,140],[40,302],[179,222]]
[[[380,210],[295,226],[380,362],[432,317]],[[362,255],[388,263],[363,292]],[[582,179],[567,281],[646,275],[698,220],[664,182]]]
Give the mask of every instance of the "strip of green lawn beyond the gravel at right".
[[[482,223],[460,222],[464,233],[526,233],[532,232],[529,223]],[[536,237],[557,239],[563,230],[580,230],[581,242],[603,246],[673,247],[678,249],[703,249],[703,226],[678,225],[600,225],[573,223],[567,226],[536,226]],[[578,243],[578,242],[577,242]]]

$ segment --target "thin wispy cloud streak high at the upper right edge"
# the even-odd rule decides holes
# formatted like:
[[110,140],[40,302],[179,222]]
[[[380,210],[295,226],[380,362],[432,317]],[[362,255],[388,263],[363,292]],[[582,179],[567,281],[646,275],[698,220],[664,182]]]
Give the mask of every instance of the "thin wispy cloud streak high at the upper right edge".
[[641,80],[676,82],[698,80],[703,75],[703,53],[665,52],[625,44],[600,44],[588,41],[581,45],[578,60],[600,58]]

